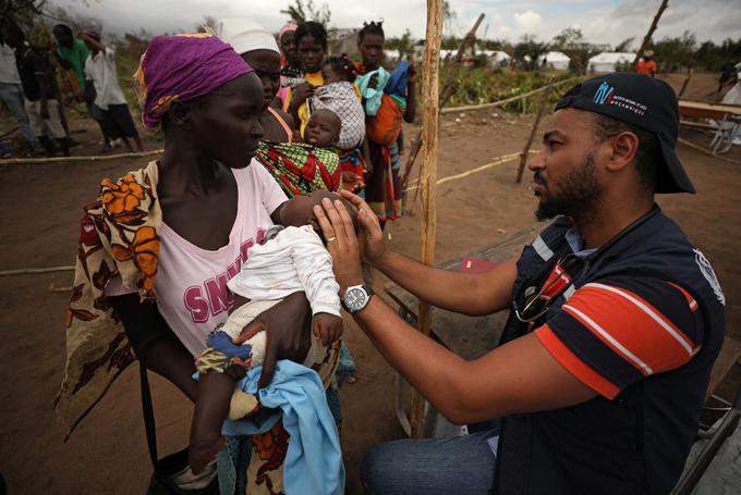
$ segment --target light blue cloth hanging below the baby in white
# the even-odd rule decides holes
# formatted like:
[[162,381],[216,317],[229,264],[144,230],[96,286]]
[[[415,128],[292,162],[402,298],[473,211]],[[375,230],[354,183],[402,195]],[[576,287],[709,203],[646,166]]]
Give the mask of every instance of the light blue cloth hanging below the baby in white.
[[[263,406],[280,409],[283,428],[291,435],[283,463],[283,486],[290,495],[342,495],[344,466],[340,436],[321,380],[316,371],[289,360],[276,364],[266,388],[257,389],[263,367],[255,367],[238,382],[243,391],[257,395]],[[260,424],[224,421],[224,435],[254,435],[268,431],[281,417],[276,412]]]

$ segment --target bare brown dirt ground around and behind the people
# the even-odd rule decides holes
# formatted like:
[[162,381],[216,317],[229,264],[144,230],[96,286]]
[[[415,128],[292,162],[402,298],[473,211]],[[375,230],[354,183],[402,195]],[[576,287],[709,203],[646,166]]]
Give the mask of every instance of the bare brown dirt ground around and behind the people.
[[[672,84],[681,85],[682,77],[677,79]],[[697,94],[709,91],[712,81],[706,83],[696,88]],[[439,177],[520,151],[532,121],[531,115],[491,111],[447,115],[440,133]],[[412,134],[408,128],[406,135]],[[75,135],[88,141],[75,153],[94,154],[95,136],[89,126],[85,134]],[[709,143],[706,135],[683,136],[700,145]],[[155,149],[159,144],[146,147]],[[741,161],[739,148],[727,157]],[[678,149],[697,195],[657,200],[713,262],[727,297],[728,334],[741,338],[741,165],[683,145]],[[72,264],[81,206],[95,198],[101,177],[118,177],[144,164],[144,160],[117,160],[1,168],[0,270]],[[531,175],[515,184],[515,169],[513,161],[440,185],[438,261],[535,223]],[[412,213],[390,224],[389,245],[417,257],[418,223]],[[150,467],[136,367],[122,373],[66,443],[51,410],[64,363],[62,318],[68,294],[50,287],[69,286],[71,280],[70,272],[0,277],[0,361],[7,371],[0,375],[0,473],[10,494],[143,493]],[[376,289],[385,282],[379,274],[374,277]],[[363,455],[372,445],[403,433],[393,414],[393,371],[349,320],[344,335],[357,364],[357,383],[341,392],[342,443],[348,493],[361,494],[357,472]],[[173,386],[157,378],[153,381],[160,451],[173,451],[187,441],[192,406]]]

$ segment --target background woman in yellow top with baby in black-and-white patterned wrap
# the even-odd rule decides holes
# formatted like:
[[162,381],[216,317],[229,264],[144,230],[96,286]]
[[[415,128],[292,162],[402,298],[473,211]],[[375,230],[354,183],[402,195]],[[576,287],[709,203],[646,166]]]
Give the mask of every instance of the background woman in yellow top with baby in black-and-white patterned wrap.
[[303,136],[309,119],[306,100],[314,95],[314,88],[324,85],[321,65],[327,52],[327,32],[321,24],[308,21],[296,28],[293,44],[305,81],[289,88],[283,109],[293,115]]

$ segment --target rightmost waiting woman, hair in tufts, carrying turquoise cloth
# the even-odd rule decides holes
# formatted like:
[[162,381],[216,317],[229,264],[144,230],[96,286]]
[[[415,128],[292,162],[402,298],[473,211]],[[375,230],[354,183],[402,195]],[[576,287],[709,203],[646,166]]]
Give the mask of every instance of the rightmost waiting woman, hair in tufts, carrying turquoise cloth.
[[[384,54],[384,26],[382,22],[370,22],[363,26],[357,34],[357,48],[363,58],[363,63],[357,64],[360,74],[366,74],[380,67]],[[405,110],[403,119],[414,122],[416,113],[416,91],[413,65],[409,65],[409,84],[406,86]],[[377,78],[376,78],[377,83]],[[372,81],[369,86],[375,83]],[[384,103],[386,104],[386,103]],[[380,110],[379,110],[380,112]],[[375,116],[368,116],[366,127],[373,126]],[[373,172],[366,177],[365,199],[378,216],[381,228],[388,220],[401,216],[401,148],[403,137],[401,133],[394,143],[376,143],[368,133],[368,146]]]

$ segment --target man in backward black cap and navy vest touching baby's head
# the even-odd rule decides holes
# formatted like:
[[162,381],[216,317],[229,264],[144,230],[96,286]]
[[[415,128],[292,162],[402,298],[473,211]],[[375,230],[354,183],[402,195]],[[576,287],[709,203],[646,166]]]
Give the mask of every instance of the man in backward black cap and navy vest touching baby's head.
[[[455,423],[499,432],[375,447],[372,494],[661,494],[694,441],[722,342],[710,264],[654,203],[694,193],[675,152],[678,108],[661,81],[616,73],[572,88],[530,162],[537,216],[557,216],[485,274],[424,267],[384,246],[368,207],[359,243],[325,202],[321,224],[345,307],[384,357]],[[363,287],[363,257],[432,305],[511,310],[501,345],[465,361]]]

